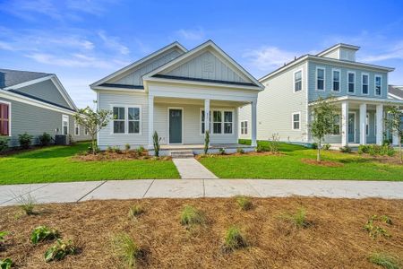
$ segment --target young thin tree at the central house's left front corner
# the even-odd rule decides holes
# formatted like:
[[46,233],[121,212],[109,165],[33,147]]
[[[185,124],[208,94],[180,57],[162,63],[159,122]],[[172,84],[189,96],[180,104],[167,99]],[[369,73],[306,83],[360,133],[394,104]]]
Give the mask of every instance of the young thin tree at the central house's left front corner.
[[[96,103],[96,101],[94,101],[94,103]],[[88,134],[90,134],[91,151],[94,155],[97,153],[97,134],[102,128],[107,126],[111,115],[112,111],[110,110],[94,110],[90,107],[87,107],[79,109],[73,116],[75,122],[87,129]]]

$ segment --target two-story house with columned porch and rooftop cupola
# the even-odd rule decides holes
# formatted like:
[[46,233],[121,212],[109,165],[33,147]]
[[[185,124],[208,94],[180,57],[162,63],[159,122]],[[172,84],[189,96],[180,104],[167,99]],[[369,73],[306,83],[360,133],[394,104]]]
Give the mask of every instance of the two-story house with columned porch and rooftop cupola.
[[[313,143],[309,129],[311,107],[319,97],[333,96],[339,116],[325,143],[381,144],[385,107],[403,106],[403,101],[388,99],[388,74],[394,68],[356,62],[358,49],[338,44],[317,55],[300,56],[263,76],[260,82],[265,89],[258,97],[257,138],[267,140],[271,134],[279,134],[281,141]],[[250,111],[250,106],[240,108],[241,138],[250,137]]]

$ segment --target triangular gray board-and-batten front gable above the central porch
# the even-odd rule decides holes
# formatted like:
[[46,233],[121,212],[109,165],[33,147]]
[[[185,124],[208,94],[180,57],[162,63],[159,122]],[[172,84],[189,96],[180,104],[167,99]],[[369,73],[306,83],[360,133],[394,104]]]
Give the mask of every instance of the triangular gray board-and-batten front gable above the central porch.
[[211,51],[205,51],[200,55],[194,56],[188,62],[172,70],[168,69],[161,74],[226,82],[249,82],[243,74],[237,73],[227,63],[223,63]]

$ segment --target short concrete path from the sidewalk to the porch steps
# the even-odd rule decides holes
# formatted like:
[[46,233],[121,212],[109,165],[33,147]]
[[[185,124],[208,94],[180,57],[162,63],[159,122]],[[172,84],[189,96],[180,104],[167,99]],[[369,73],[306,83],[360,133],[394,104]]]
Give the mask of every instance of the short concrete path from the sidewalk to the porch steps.
[[181,178],[198,178],[198,179],[209,179],[217,178],[209,169],[206,169],[199,161],[194,158],[177,158],[172,159],[176,165],[176,169],[181,175]]

